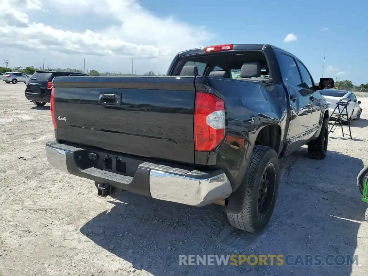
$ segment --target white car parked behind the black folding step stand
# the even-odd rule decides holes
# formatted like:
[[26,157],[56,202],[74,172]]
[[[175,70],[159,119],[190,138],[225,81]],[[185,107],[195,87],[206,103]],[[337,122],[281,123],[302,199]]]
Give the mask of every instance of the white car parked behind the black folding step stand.
[[[321,93],[326,98],[329,104],[329,113],[333,113],[333,117],[337,118],[337,116],[339,115],[339,108],[336,108],[337,103],[340,100],[346,103],[348,99],[350,99],[350,102],[347,105],[347,115],[349,118],[351,118],[351,120],[360,119],[360,115],[362,113],[362,109],[360,108],[361,101],[357,100],[357,97],[354,95],[353,92],[338,89],[323,89],[321,90]],[[340,105],[340,112],[342,111],[343,107],[343,105]],[[335,112],[333,112],[334,110]],[[346,111],[344,110],[342,114],[346,115]],[[341,119],[342,121],[347,121],[346,116],[342,117]]]

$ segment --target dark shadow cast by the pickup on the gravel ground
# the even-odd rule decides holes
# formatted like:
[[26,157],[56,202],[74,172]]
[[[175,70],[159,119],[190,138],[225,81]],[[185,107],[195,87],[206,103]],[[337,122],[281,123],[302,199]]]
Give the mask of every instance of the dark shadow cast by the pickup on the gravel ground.
[[[302,148],[281,162],[275,212],[265,231],[249,234],[229,225],[217,206],[194,208],[120,193],[113,208],[80,231],[94,243],[153,275],[350,275],[353,264],[303,265],[305,255],[354,255],[367,206],[356,188],[360,159],[329,151],[306,158]],[[179,255],[292,254],[279,266],[180,266]],[[301,262],[296,255],[302,255]],[[334,257],[329,258],[333,262]],[[337,259],[341,261],[341,258]],[[216,261],[215,261],[216,262]],[[229,261],[230,263],[231,261]],[[313,261],[315,264],[315,261]]]

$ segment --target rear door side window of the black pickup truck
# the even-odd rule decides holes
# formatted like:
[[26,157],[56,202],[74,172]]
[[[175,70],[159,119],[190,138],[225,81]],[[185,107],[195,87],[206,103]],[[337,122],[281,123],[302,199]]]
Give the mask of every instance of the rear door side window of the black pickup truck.
[[287,56],[286,54],[279,54],[278,60],[284,82],[302,87],[302,80],[293,57]]

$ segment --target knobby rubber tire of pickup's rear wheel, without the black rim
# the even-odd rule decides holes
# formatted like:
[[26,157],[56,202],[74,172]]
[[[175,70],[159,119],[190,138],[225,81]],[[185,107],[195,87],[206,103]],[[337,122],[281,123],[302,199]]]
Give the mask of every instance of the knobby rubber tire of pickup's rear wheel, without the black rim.
[[[261,218],[258,216],[258,191],[263,172],[270,163],[275,168],[275,186],[268,213]],[[259,233],[269,223],[276,204],[280,179],[279,158],[276,151],[267,146],[255,145],[247,174],[248,179],[244,178],[241,184],[246,185],[242,210],[237,214],[227,213],[227,219],[237,229],[250,233]]]

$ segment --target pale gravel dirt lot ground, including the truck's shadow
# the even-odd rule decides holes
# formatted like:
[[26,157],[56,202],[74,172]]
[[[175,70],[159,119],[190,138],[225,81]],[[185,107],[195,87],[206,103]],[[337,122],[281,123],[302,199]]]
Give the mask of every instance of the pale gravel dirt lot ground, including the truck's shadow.
[[[368,161],[368,98],[353,141],[336,131],[325,160],[308,159],[305,148],[283,160],[272,221],[251,235],[216,206],[99,198],[92,181],[53,169],[49,105],[33,106],[24,88],[0,83],[1,275],[367,275],[368,205],[355,183]],[[359,256],[358,265],[179,266],[179,254]]]

